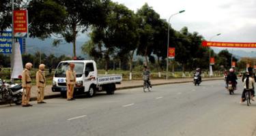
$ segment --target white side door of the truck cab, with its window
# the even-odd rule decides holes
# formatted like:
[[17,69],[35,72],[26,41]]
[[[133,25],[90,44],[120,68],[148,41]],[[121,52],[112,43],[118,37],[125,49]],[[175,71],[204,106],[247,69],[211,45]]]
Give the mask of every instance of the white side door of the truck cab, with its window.
[[94,69],[94,63],[86,63],[85,65],[85,92],[89,90],[89,86],[96,82],[96,71]]

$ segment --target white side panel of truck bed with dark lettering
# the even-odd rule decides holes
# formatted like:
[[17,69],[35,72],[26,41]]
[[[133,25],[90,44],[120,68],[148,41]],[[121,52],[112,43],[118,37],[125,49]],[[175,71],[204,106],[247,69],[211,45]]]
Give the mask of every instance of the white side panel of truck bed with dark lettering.
[[108,75],[98,75],[98,84],[111,84],[122,82],[122,75],[118,74],[108,74]]

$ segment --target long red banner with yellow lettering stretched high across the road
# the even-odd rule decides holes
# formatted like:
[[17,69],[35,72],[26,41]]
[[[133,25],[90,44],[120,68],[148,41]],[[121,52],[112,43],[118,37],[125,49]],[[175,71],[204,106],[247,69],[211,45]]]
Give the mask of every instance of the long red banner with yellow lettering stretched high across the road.
[[234,43],[234,42],[216,42],[203,41],[205,47],[223,47],[223,48],[256,48],[256,43]]

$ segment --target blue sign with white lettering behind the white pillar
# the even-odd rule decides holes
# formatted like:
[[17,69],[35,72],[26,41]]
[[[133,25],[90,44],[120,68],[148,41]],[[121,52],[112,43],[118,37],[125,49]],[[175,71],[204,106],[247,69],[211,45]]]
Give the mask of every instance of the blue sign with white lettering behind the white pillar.
[[[23,38],[16,38],[20,43],[20,52],[23,53]],[[0,31],[0,53],[12,53],[12,31]]]

